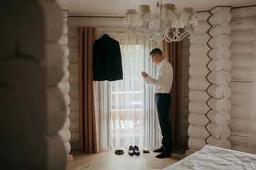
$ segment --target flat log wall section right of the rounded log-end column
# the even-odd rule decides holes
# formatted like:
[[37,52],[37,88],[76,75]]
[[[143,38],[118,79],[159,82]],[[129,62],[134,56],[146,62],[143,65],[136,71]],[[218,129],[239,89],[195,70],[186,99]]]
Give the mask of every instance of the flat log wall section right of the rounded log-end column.
[[[255,68],[255,25],[245,18],[256,17],[256,6],[233,8],[230,11],[232,68],[230,83],[232,104],[230,115],[230,137],[232,149],[256,153],[256,147],[248,149],[250,136],[250,107],[252,97],[252,69]],[[251,130],[256,130],[252,127]],[[256,142],[256,141],[255,141]]]

